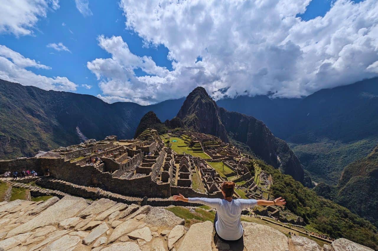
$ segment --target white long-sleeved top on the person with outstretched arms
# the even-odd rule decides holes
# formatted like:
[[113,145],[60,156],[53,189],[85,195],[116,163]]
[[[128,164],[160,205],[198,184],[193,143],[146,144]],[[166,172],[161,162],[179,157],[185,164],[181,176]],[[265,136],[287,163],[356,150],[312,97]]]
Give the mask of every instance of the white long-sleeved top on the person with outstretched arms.
[[257,205],[255,199],[233,199],[228,202],[225,199],[188,198],[188,202],[203,204],[217,210],[218,220],[215,223],[215,230],[225,240],[238,240],[243,236],[240,214],[243,209]]

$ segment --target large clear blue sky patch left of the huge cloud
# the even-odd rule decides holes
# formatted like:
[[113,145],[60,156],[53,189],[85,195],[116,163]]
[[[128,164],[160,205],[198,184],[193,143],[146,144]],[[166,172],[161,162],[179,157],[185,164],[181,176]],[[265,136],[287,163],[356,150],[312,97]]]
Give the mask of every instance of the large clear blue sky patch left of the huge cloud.
[[[30,69],[36,74],[53,76],[67,76],[70,81],[77,83],[77,93],[97,95],[101,90],[97,86],[95,75],[88,70],[87,61],[106,58],[108,53],[98,46],[98,35],[106,37],[119,35],[136,55],[149,55],[157,65],[172,69],[167,59],[168,49],[162,45],[146,47],[143,39],[135,32],[125,28],[125,17],[118,3],[109,1],[91,1],[89,8],[93,15],[84,16],[76,8],[73,0],[59,2],[60,8],[50,10],[47,18],[38,21],[33,36],[16,37],[14,34],[0,35],[3,44],[24,57],[33,58],[51,67],[46,69]],[[65,25],[62,25],[62,24]],[[56,51],[46,47],[49,43],[63,43],[70,51]],[[138,72],[138,69],[136,70]],[[92,86],[91,89],[82,84]]]

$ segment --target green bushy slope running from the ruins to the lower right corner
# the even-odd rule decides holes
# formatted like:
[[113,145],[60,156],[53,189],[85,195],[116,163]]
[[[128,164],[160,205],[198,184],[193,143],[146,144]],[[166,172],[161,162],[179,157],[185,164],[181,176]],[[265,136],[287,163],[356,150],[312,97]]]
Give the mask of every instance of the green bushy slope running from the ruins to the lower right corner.
[[285,198],[287,208],[305,220],[309,231],[315,230],[336,239],[343,237],[373,249],[378,248],[378,231],[370,222],[331,200],[318,197],[290,175],[282,174],[262,161],[256,162],[272,175],[274,184],[271,195]]

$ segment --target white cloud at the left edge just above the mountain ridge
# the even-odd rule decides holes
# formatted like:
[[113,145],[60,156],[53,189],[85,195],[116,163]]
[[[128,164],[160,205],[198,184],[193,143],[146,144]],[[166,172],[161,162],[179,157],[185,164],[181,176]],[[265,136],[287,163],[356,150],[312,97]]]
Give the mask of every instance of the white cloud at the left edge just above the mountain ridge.
[[26,67],[51,69],[37,63],[35,60],[25,58],[18,52],[0,45],[0,79],[17,82],[22,85],[36,86],[45,90],[74,91],[77,85],[66,77],[46,77],[37,75]]

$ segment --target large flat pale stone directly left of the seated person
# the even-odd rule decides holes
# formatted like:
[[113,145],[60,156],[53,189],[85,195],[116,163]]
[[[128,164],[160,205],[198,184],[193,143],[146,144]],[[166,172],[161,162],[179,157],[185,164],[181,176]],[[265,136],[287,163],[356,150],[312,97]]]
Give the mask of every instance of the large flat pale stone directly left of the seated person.
[[[195,223],[184,236],[178,251],[211,251],[214,227],[211,221]],[[268,250],[268,249],[261,249]]]

